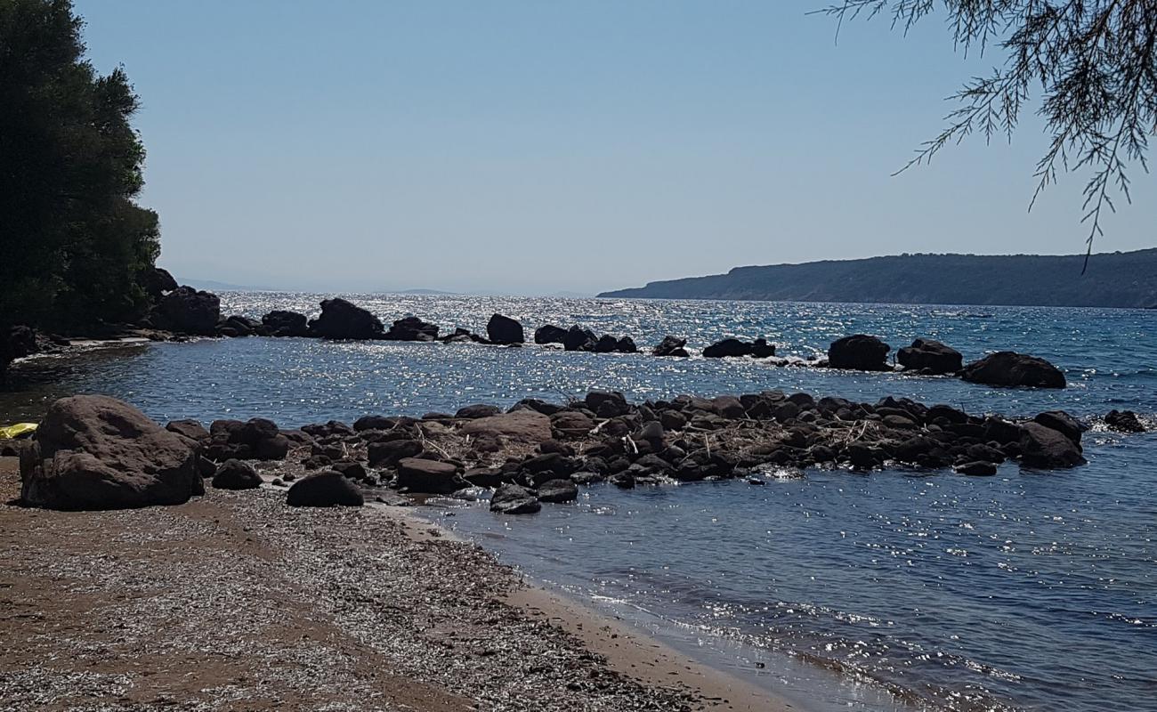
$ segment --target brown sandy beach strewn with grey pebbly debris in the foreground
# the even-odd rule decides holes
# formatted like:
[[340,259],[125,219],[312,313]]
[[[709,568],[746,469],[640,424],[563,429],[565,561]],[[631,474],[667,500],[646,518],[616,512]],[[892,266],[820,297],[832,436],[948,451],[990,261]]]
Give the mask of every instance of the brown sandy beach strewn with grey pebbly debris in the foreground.
[[283,500],[3,505],[0,709],[791,709],[401,508]]

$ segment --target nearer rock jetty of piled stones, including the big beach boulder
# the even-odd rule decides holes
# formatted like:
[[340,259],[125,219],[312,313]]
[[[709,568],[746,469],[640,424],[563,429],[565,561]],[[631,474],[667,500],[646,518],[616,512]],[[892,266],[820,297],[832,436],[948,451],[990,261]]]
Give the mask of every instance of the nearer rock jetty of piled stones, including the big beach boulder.
[[[1145,427],[1127,411],[1110,413],[1106,426]],[[272,484],[292,483],[292,506],[487,487],[495,512],[525,514],[604,480],[635,487],[761,483],[766,471],[808,468],[951,468],[972,476],[994,475],[1004,462],[1073,468],[1085,462],[1088,428],[1063,411],[1012,420],[908,398],[856,403],[781,391],[641,404],[591,391],[566,405],[524,399],[506,412],[480,404],[452,416],[366,416],[352,426],[331,420],[287,431],[255,418],[162,428],[120,401],[74,396],[54,403],[22,448],[21,497],[54,509],[179,504],[204,492],[204,478],[219,489],[255,489],[272,468]]]

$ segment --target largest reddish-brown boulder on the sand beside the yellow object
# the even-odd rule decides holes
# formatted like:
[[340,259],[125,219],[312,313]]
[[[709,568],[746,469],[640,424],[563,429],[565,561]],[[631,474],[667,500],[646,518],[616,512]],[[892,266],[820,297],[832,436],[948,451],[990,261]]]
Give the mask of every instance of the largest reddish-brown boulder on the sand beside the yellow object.
[[190,442],[132,405],[72,396],[49,408],[22,452],[21,500],[50,509],[178,505],[202,494]]

